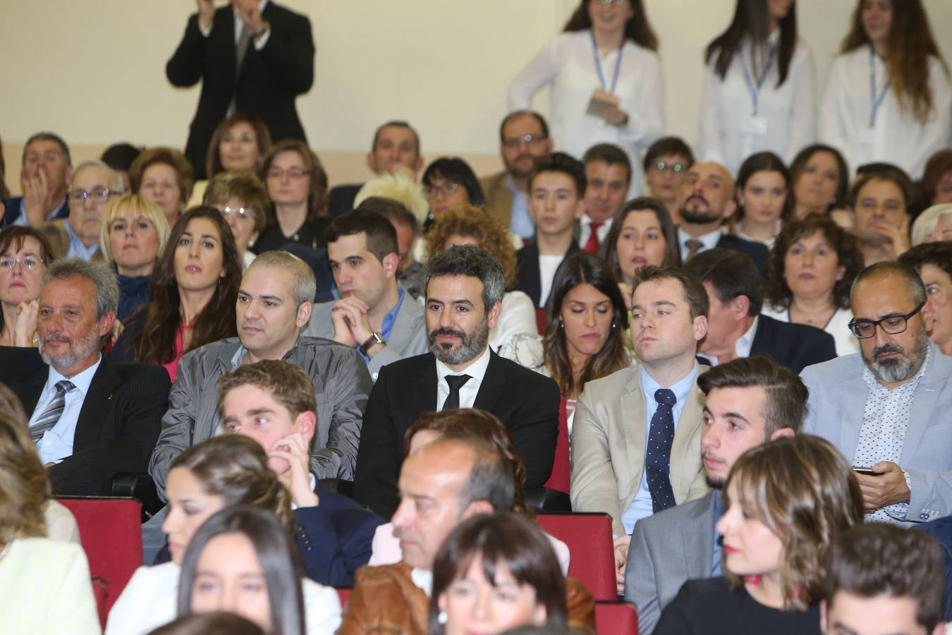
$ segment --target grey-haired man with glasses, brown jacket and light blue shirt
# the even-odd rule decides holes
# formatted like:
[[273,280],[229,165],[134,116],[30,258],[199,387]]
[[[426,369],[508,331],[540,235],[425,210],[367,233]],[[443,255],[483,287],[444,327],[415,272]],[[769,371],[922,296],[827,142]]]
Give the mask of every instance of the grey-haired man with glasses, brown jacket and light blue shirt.
[[54,258],[92,260],[109,199],[122,194],[122,178],[99,160],[84,161],[69,184],[69,216],[38,229],[50,241]]

